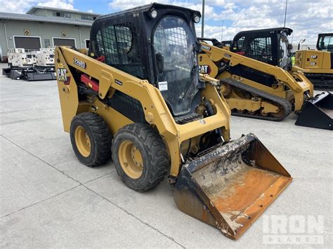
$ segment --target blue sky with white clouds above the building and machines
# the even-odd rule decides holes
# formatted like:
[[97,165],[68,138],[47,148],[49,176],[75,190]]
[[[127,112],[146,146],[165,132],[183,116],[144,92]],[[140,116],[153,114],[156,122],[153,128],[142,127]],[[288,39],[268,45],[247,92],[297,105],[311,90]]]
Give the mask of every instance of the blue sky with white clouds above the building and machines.
[[[149,4],[150,0],[0,0],[0,12],[25,13],[31,6],[51,6],[77,9],[100,14]],[[201,11],[201,0],[160,0]],[[285,0],[206,0],[206,37],[232,39],[237,32],[249,29],[282,27],[285,18]],[[294,29],[291,39],[297,43],[306,38],[306,44],[315,44],[318,33],[333,32],[332,0],[289,0],[286,27]],[[198,36],[201,35],[197,25]],[[222,36],[223,35],[223,36]]]

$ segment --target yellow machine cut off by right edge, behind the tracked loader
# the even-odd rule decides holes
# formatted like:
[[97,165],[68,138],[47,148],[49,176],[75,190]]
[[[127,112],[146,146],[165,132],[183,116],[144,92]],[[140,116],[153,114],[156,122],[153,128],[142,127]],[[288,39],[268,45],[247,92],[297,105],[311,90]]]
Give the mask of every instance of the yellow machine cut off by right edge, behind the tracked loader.
[[333,33],[318,34],[317,49],[296,51],[296,66],[318,90],[333,90]]

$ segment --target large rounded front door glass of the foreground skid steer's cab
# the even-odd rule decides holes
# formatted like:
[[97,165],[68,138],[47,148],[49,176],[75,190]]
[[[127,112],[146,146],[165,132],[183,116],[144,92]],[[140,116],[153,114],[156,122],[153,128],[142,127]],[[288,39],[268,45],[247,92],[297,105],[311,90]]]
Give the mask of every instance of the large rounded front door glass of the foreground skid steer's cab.
[[163,72],[158,74],[158,87],[175,116],[190,112],[197,93],[197,54],[195,36],[185,20],[176,16],[163,18],[153,34],[155,55],[161,53]]

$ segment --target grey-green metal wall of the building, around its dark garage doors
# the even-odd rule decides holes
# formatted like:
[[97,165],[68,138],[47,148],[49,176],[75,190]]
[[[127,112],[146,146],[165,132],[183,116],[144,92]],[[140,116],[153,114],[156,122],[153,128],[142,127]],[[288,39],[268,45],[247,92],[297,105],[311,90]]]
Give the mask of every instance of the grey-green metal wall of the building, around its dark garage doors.
[[[66,32],[66,38],[74,38],[77,48],[85,48],[85,39],[89,39],[90,28],[76,25],[57,24],[52,22],[32,22],[20,20],[1,20],[0,22],[0,46],[3,56],[7,55],[6,34],[4,25],[6,25],[8,48],[14,48],[13,36],[25,36],[24,30],[30,30],[30,36],[41,37],[41,47],[45,48],[45,39],[49,39],[53,46],[53,37],[63,38],[62,33]],[[81,33],[81,39],[80,39]]]

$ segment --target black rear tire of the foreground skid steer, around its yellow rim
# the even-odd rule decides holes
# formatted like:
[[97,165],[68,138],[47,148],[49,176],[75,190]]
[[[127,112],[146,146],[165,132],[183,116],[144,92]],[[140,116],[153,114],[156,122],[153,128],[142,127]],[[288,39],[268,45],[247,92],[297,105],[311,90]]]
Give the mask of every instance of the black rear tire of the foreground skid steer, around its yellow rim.
[[[77,149],[74,137],[77,126],[83,127],[91,140],[91,153],[87,157],[82,156]],[[70,125],[70,141],[77,159],[86,166],[101,166],[111,157],[112,135],[107,123],[98,114],[83,112],[74,116]]]

